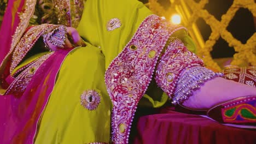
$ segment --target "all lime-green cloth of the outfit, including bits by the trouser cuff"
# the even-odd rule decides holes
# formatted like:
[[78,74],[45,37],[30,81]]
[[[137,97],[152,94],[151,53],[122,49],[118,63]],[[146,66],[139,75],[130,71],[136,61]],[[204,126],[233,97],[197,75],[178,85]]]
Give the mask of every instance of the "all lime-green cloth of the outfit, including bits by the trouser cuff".
[[[35,143],[109,142],[112,104],[104,83],[104,72],[129,43],[141,22],[151,14],[136,0],[85,2],[77,30],[88,46],[73,50],[63,62],[40,118]],[[120,19],[121,27],[107,31],[107,22],[115,17]],[[191,42],[184,33],[179,36]],[[195,50],[194,47],[191,50]],[[80,95],[87,89],[95,89],[101,94],[101,103],[96,110],[89,111],[80,105]],[[167,99],[152,81],[139,106],[160,107]]]

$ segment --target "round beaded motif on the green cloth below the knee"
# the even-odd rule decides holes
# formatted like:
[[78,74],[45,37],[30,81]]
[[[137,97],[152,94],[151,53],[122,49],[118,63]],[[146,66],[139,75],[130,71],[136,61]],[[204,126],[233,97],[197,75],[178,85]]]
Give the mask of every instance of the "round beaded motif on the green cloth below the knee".
[[98,104],[101,102],[101,96],[98,92],[94,90],[86,90],[84,91],[81,96],[81,105],[88,110],[95,110],[98,107]]

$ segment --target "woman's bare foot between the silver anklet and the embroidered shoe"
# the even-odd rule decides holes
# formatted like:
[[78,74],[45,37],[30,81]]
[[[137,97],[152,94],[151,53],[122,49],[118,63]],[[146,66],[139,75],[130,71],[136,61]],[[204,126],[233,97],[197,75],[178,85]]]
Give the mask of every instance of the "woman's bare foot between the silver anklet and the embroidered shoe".
[[201,88],[194,91],[193,95],[182,105],[197,109],[210,109],[218,103],[247,95],[256,95],[256,88],[216,77],[201,85]]

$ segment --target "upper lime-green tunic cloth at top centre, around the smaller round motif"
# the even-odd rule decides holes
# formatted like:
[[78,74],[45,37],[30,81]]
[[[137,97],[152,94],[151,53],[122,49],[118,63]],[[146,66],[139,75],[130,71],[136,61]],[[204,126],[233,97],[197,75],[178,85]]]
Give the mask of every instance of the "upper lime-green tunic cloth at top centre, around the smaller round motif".
[[[84,7],[77,30],[85,41],[101,47],[106,69],[129,43],[141,22],[152,14],[136,0],[88,0]],[[115,17],[121,21],[121,27],[107,31],[107,22]]]

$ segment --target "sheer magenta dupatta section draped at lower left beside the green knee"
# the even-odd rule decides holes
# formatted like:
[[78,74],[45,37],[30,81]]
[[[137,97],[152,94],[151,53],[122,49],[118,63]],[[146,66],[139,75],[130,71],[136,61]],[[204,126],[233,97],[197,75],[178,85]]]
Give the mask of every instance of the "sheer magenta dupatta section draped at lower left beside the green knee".
[[0,143],[32,143],[37,122],[63,59],[70,50],[59,50],[38,68],[21,97],[0,95]]

